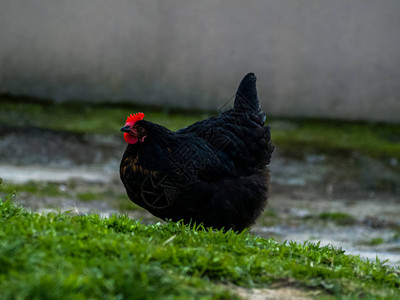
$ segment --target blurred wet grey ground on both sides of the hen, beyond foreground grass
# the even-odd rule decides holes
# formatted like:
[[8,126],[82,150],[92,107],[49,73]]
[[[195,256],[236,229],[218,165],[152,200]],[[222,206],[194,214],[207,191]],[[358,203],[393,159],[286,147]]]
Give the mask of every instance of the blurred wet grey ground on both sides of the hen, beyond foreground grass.
[[[0,126],[0,178],[4,184],[56,184],[60,191],[56,196],[18,193],[15,200],[34,211],[127,213],[145,223],[159,222],[124,196],[118,175],[124,149],[119,135]],[[400,264],[397,162],[357,155],[294,159],[281,155],[278,148],[270,169],[269,204],[253,234],[280,241],[321,242],[348,254]],[[94,193],[93,199],[77,196],[88,192]],[[337,213],[341,218],[335,219]]]

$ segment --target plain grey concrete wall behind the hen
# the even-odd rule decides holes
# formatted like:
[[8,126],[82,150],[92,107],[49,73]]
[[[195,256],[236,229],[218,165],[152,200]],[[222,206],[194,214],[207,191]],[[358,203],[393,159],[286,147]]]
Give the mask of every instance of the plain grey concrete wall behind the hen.
[[0,93],[400,122],[398,0],[0,0]]

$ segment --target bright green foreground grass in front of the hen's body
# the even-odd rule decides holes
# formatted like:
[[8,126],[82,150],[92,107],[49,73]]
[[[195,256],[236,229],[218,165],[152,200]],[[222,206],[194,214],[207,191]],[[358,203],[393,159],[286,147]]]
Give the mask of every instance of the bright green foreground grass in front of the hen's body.
[[284,283],[338,299],[400,297],[398,270],[333,247],[0,201],[1,299],[231,299],[234,286]]

